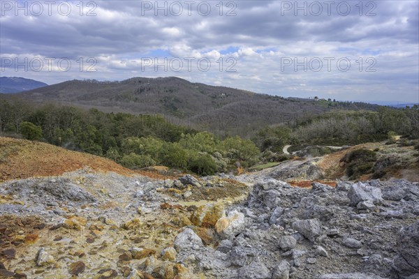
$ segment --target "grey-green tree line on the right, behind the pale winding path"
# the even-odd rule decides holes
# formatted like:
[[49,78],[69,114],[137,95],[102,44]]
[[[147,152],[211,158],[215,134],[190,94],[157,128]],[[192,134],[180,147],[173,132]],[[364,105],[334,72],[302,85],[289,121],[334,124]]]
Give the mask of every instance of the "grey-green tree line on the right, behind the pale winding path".
[[353,145],[387,140],[389,135],[419,138],[419,107],[379,107],[372,111],[335,110],[312,115],[297,125],[269,126],[253,137],[261,151],[286,144]]

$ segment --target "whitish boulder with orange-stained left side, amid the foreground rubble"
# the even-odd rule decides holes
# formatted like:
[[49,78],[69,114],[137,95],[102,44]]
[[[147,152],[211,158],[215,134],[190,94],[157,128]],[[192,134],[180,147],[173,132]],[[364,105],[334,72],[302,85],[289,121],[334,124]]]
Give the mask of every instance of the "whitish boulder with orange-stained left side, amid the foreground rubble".
[[244,214],[230,211],[227,217],[221,217],[215,224],[217,234],[223,239],[240,234],[244,229]]

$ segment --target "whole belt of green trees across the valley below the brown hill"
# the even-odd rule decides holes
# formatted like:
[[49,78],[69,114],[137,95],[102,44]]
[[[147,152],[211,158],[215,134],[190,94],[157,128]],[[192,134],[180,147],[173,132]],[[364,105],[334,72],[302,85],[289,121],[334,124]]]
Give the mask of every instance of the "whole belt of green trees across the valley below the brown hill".
[[0,102],[0,135],[41,140],[105,156],[131,169],[166,165],[197,174],[214,174],[287,160],[289,157],[282,154],[286,144],[304,148],[313,144],[391,141],[394,135],[419,137],[417,106],[403,110],[333,110],[302,121],[266,123],[254,130],[251,137],[214,134],[203,127],[197,130],[171,120],[154,114],[105,113],[52,104],[34,106],[21,99]]

